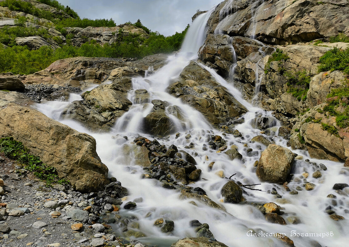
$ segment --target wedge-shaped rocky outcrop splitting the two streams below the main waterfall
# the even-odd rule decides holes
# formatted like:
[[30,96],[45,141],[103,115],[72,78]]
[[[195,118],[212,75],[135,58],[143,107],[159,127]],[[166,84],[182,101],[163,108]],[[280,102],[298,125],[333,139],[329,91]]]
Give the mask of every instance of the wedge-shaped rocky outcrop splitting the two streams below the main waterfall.
[[225,122],[228,118],[247,112],[245,106],[196,62],[191,62],[185,67],[167,91],[200,111],[213,124]]

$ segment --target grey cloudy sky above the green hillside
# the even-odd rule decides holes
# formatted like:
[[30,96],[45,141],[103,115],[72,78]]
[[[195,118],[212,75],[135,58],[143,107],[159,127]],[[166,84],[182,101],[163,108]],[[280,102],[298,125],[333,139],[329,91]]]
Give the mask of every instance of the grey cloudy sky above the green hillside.
[[123,24],[141,20],[151,31],[168,36],[181,32],[197,9],[208,10],[223,0],[58,0],[81,18],[110,19]]

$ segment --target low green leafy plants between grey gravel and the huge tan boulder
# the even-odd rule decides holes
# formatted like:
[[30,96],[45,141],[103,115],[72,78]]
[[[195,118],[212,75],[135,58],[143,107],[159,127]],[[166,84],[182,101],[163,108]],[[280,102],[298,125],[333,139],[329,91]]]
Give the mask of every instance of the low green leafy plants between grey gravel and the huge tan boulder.
[[24,166],[34,175],[51,184],[69,184],[65,179],[59,179],[57,171],[54,167],[44,164],[39,157],[30,154],[29,149],[23,146],[22,142],[18,142],[13,137],[5,137],[0,139],[0,150],[10,159],[16,160],[20,165]]

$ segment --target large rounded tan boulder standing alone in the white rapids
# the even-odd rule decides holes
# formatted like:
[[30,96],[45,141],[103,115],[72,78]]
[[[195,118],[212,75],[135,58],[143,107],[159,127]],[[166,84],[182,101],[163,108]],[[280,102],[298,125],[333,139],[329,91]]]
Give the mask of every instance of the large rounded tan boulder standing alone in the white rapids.
[[294,153],[276,144],[270,144],[261,154],[257,165],[257,176],[261,181],[283,183],[289,175]]

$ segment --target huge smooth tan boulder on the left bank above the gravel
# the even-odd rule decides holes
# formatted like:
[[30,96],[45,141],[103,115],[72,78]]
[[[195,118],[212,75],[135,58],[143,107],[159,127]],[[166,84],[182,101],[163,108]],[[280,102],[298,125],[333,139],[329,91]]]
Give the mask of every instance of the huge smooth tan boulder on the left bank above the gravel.
[[47,165],[56,168],[60,178],[82,192],[103,189],[108,183],[107,167],[96,153],[93,137],[79,133],[44,114],[7,103],[0,109],[1,136],[13,136]]

